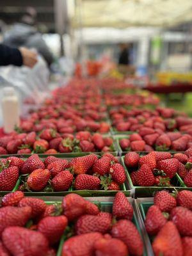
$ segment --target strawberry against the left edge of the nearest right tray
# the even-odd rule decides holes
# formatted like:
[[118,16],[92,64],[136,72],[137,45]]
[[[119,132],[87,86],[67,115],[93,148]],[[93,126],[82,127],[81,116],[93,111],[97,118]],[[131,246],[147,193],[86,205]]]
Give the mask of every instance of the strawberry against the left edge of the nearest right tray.
[[163,228],[167,219],[157,205],[152,205],[145,218],[145,228],[150,235],[156,235]]

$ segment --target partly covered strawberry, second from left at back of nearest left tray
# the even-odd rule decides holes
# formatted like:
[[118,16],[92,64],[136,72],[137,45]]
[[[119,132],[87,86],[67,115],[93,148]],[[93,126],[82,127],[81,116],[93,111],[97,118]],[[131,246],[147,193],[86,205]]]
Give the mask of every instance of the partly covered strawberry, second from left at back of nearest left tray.
[[30,206],[32,209],[31,218],[36,218],[45,211],[47,205],[45,204],[44,200],[40,198],[25,197],[20,200],[18,206]]

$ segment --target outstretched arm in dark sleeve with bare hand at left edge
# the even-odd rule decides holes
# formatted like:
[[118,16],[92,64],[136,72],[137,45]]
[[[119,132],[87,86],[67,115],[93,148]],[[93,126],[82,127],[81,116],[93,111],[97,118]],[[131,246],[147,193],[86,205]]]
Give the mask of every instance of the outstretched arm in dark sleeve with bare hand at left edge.
[[37,55],[35,52],[27,48],[20,47],[19,49],[8,47],[0,44],[0,66],[15,65],[32,68],[37,62]]

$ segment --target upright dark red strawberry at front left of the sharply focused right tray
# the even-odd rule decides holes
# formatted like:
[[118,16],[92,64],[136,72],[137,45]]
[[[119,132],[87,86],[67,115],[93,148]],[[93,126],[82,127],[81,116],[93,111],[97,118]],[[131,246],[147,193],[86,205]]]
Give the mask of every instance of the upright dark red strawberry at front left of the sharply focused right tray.
[[153,186],[155,177],[147,164],[143,164],[136,175],[136,183],[139,186]]

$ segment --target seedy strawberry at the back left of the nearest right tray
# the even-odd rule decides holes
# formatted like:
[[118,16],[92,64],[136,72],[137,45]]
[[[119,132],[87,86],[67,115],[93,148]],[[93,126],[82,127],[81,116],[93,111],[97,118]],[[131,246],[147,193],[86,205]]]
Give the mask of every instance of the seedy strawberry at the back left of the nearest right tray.
[[174,196],[168,191],[157,191],[154,196],[154,205],[157,205],[162,212],[170,212],[176,207],[177,202]]

